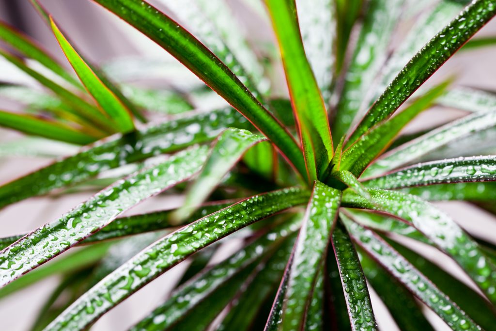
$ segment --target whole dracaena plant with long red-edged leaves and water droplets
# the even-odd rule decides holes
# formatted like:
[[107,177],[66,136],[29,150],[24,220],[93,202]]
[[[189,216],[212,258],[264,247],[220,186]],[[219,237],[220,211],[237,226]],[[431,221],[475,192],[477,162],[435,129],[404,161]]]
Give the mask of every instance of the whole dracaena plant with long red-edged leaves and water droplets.
[[[44,86],[1,77],[1,95],[25,108],[1,111],[0,124],[33,136],[1,148],[72,155],[3,184],[0,207],[101,190],[0,240],[0,296],[63,276],[33,330],[87,330],[184,260],[168,299],[131,330],[376,330],[370,287],[401,330],[434,330],[425,307],[452,330],[496,330],[493,244],[431,202],[495,212],[496,156],[471,153],[495,148],[496,96],[453,76],[424,85],[462,47],[494,44],[469,39],[496,14],[495,0],[243,2],[275,45],[244,33],[221,0],[94,0],[210,88],[181,91],[129,83],[129,64],[91,64],[91,50],[76,49],[57,17],[31,2],[73,70],[0,24],[0,54]],[[398,24],[413,17],[387,56]],[[279,60],[282,82],[272,74]],[[135,74],[160,66],[143,60]],[[289,99],[276,97],[285,83]],[[219,105],[214,92],[227,104],[209,107]],[[400,135],[434,105],[468,115]],[[157,112],[171,116],[146,123]],[[168,191],[184,194],[179,208],[122,216]],[[207,266],[217,242],[233,237],[243,246]],[[426,259],[426,246],[463,277]]]

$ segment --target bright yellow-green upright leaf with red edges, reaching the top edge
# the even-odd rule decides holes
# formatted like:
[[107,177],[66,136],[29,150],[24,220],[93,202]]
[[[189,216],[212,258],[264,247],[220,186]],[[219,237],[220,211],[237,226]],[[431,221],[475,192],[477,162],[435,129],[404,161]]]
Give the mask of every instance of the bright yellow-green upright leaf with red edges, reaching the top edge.
[[305,55],[294,0],[266,0],[279,41],[293,112],[298,121],[308,177],[314,181],[332,158],[324,101]]

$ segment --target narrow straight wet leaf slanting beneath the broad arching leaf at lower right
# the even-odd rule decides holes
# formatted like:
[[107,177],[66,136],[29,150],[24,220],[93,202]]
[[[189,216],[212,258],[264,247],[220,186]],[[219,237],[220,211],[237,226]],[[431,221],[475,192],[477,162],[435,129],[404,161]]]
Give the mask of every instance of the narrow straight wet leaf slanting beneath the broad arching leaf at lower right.
[[345,224],[353,239],[368,255],[431,308],[453,330],[481,330],[456,303],[435,287],[429,278],[375,233],[351,221],[346,221]]

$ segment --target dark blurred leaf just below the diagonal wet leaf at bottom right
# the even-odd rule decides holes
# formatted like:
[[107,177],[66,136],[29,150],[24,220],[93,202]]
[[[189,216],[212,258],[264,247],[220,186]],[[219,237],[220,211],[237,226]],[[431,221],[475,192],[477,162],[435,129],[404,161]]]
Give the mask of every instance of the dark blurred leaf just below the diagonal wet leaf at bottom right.
[[404,331],[434,331],[414,296],[399,281],[366,255],[360,253],[360,263],[372,287],[386,305],[394,321]]

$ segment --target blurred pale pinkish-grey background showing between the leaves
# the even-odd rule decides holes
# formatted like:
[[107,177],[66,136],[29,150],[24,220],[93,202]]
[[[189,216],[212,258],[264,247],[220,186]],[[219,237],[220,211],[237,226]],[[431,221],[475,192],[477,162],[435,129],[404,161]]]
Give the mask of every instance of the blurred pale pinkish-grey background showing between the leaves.
[[[274,37],[270,32],[270,23],[264,16],[261,0],[227,0],[233,10],[233,22],[244,31],[249,31],[248,38],[258,40],[260,52],[267,52],[269,56],[277,58],[274,52]],[[107,69],[109,74],[119,80],[124,80],[137,85],[146,85],[164,91],[180,90],[186,85],[201,85],[201,82],[186,69],[182,68],[171,56],[160,47],[142,36],[133,28],[127,26],[116,16],[107,12],[90,0],[41,0],[50,11],[59,26],[74,42],[85,57],[94,64]],[[150,1],[159,8],[167,1]],[[255,3],[256,2],[256,3]],[[257,13],[256,16],[252,15]],[[255,19],[253,17],[256,17]],[[50,54],[54,55],[62,64],[67,65],[59,45],[53,34],[38,16],[28,0],[0,0],[0,20],[31,36],[43,45]],[[402,40],[415,17],[404,19],[400,22],[393,45]],[[182,22],[187,27],[187,22]],[[478,34],[495,35],[496,21],[490,22]],[[456,75],[457,83],[496,91],[496,48],[482,48],[471,52],[462,52],[455,55],[444,65],[429,81],[433,83],[449,75]],[[145,74],[143,74],[143,71]],[[140,73],[136,75],[135,73]],[[277,94],[287,94],[285,79],[280,63],[275,63],[272,70],[272,83]],[[138,77],[139,76],[139,77]],[[145,77],[145,78],[143,78]],[[23,74],[15,67],[0,59],[0,82],[9,81],[34,88],[39,88],[37,83],[29,76]],[[215,96],[210,100],[213,104],[222,104]],[[158,102],[160,102],[158,100]],[[0,96],[0,109],[15,111],[22,105]],[[449,109],[433,109],[419,116],[418,119],[406,129],[418,130],[423,127],[432,127],[437,123],[445,123],[464,115],[463,112]],[[155,115],[157,120],[167,118],[169,114]],[[10,130],[0,129],[0,143],[16,139],[20,134]],[[74,148],[54,147],[52,154],[60,156],[70,155]],[[76,149],[77,150],[77,149]],[[0,183],[8,182],[22,174],[26,174],[43,165],[50,163],[50,157],[31,157],[26,155],[9,155],[8,151],[0,154]],[[91,193],[77,192],[63,197],[51,195],[43,198],[27,199],[8,206],[0,212],[0,236],[9,236],[28,232],[39,225],[58,218],[63,212],[87,199]],[[149,199],[133,208],[128,214],[140,211],[165,209],[180,205],[180,196],[167,195]],[[469,231],[478,234],[483,239],[494,242],[496,234],[496,220],[489,213],[476,209],[469,203],[442,202],[437,203],[441,209],[451,215],[457,222]],[[134,249],[143,245],[146,240],[135,243]],[[231,240],[224,245],[236,246],[236,240]],[[131,245],[132,246],[132,245]],[[143,246],[144,247],[144,246]],[[128,246],[115,247],[114,256],[125,253]],[[445,269],[455,272],[458,277],[463,274],[457,272],[458,266],[446,262],[444,257],[436,251],[425,252],[433,261],[441,264]],[[214,257],[213,262],[221,257]],[[101,318],[92,328],[94,331],[125,330],[139,321],[151,311],[173,288],[181,271],[186,264],[178,265],[166,272],[150,285],[120,304],[116,309]],[[23,289],[13,295],[0,298],[0,321],[2,330],[24,331],[29,330],[35,321],[38,311],[49,298],[52,291],[60,282],[60,277],[50,277],[44,281]],[[379,327],[382,330],[395,330],[392,323],[388,322],[387,313],[380,309],[381,304],[376,296],[373,302],[380,314],[385,319]],[[438,326],[438,330],[446,327],[435,316],[430,318]]]

